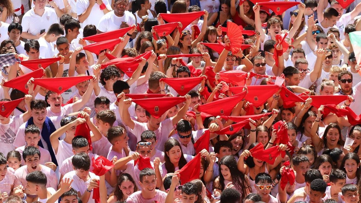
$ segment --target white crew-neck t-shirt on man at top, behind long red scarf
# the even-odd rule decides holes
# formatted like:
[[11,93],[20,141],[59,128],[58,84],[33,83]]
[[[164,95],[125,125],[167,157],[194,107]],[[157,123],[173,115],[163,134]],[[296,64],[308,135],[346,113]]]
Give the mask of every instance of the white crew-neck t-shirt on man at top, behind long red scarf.
[[111,11],[100,18],[96,28],[101,32],[118,30],[122,22],[126,22],[129,26],[132,26],[135,24],[135,17],[129,11],[125,11],[122,17],[116,16],[114,11]]

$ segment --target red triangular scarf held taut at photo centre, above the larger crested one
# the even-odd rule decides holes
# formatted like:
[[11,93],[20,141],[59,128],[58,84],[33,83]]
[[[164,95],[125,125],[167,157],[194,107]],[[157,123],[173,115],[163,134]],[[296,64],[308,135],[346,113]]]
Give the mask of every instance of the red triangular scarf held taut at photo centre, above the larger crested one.
[[186,95],[190,90],[197,86],[203,77],[192,78],[161,78],[159,82],[164,81],[169,86],[173,87],[175,91],[181,96]]

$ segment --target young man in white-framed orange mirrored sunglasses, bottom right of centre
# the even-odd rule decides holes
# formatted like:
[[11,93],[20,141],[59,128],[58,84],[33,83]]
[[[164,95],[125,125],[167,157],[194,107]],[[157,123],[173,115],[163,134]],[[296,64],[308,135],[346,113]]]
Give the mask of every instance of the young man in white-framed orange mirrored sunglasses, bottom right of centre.
[[268,173],[258,173],[255,178],[255,188],[257,194],[266,203],[278,203],[278,199],[270,195],[272,189],[272,178]]

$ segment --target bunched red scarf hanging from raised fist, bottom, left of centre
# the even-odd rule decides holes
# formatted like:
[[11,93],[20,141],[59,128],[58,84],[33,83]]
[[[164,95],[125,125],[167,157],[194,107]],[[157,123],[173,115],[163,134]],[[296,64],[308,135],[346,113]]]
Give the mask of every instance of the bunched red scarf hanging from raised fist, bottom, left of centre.
[[[94,173],[97,176],[103,176],[108,170],[114,167],[112,162],[110,162],[104,156],[99,156],[96,159],[92,157],[92,166],[93,166],[92,173]],[[97,183],[99,185],[99,181],[97,181]],[[99,187],[93,189],[92,199],[94,199],[96,203],[100,203]]]

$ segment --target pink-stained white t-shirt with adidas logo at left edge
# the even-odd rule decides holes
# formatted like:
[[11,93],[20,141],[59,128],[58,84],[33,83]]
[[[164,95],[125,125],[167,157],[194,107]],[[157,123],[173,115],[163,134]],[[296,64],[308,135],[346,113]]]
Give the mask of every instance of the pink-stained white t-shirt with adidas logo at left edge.
[[23,123],[23,116],[20,115],[10,118],[8,124],[0,125],[0,152],[3,153],[5,156],[8,154],[9,151],[15,150],[16,147],[14,147],[13,144],[16,139],[16,132]]

